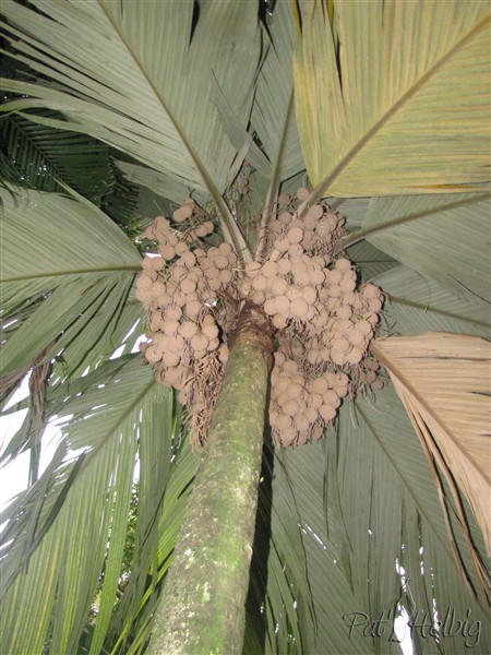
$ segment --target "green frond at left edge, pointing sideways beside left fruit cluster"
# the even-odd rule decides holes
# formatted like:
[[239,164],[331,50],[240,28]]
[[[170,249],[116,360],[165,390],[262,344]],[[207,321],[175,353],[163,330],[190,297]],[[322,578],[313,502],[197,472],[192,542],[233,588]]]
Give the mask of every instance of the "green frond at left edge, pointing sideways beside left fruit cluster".
[[41,353],[45,360],[63,353],[73,374],[112,353],[137,320],[137,305],[124,303],[141,257],[83,199],[39,191],[2,196],[1,318],[15,329],[2,346],[1,376]]

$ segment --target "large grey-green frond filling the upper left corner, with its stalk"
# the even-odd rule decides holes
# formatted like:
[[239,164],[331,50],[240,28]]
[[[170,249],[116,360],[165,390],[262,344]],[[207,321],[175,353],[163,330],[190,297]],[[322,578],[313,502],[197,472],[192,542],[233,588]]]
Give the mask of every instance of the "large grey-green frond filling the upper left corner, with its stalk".
[[9,55],[57,82],[55,87],[40,80],[4,80],[7,91],[28,97],[5,104],[3,110],[56,107],[65,121],[37,120],[91,134],[209,194],[226,237],[247,258],[240,230],[221,199],[237,153],[223,131],[209,80],[213,72],[246,126],[261,52],[253,4],[208,2],[201,5],[196,25],[191,0],[178,11],[168,2],[103,0],[40,3],[46,17],[15,2],[7,2],[3,10]]

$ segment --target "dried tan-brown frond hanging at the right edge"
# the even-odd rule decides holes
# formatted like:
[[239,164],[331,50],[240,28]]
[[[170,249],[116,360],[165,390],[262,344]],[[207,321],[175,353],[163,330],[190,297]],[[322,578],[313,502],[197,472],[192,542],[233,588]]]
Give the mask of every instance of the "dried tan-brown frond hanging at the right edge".
[[[489,344],[433,332],[378,340],[371,350],[388,370],[431,460],[466,495],[490,553]],[[456,489],[455,496],[458,505]]]

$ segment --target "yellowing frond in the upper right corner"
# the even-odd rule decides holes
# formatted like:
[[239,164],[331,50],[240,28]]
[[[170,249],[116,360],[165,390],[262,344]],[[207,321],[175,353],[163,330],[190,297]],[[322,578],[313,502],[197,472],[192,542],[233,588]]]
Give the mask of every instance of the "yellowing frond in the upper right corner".
[[316,194],[465,191],[489,179],[489,4],[306,2],[296,111]]

